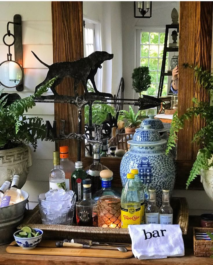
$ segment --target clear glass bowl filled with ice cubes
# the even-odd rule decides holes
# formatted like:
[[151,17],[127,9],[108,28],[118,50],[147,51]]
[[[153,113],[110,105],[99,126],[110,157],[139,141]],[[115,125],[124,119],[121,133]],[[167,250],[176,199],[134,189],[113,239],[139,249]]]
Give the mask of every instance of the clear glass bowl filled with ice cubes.
[[38,195],[42,224],[71,225],[73,222],[76,194],[70,190],[49,190]]

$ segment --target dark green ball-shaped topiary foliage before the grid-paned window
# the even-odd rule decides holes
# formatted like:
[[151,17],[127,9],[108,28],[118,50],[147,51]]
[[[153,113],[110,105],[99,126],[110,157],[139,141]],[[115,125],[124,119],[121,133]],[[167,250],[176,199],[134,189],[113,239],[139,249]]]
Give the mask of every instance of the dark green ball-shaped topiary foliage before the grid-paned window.
[[135,92],[141,93],[146,91],[151,84],[151,76],[149,74],[149,68],[147,66],[140,66],[133,70],[132,73],[132,86]]

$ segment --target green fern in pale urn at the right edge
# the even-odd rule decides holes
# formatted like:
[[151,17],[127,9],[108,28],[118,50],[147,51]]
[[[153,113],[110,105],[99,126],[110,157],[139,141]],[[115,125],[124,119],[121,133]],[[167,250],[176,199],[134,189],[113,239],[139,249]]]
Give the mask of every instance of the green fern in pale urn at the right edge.
[[[185,64],[185,67],[192,67]],[[194,67],[195,77],[197,82],[207,89],[210,96],[213,95],[213,76],[209,71],[203,71],[201,67]],[[185,114],[178,117],[177,112],[174,114],[170,136],[168,139],[168,146],[166,152],[168,153],[173,147],[175,147],[177,141],[177,133],[183,128],[184,121],[200,115],[202,119],[205,119],[205,127],[199,130],[195,135],[193,142],[202,144],[202,148],[199,150],[196,161],[193,164],[192,170],[186,183],[186,189],[188,189],[191,181],[201,174],[201,182],[208,196],[213,200],[213,106],[210,102],[199,101],[197,98],[193,98],[194,107],[189,108]]]

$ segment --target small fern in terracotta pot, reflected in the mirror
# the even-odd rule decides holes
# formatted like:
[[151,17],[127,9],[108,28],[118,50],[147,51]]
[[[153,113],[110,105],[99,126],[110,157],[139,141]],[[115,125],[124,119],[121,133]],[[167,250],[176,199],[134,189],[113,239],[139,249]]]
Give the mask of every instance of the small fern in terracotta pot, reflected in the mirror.
[[129,111],[121,111],[124,119],[127,119],[125,124],[125,133],[135,133],[135,129],[139,127],[141,120],[139,119],[140,112],[134,113],[133,108],[129,106]]

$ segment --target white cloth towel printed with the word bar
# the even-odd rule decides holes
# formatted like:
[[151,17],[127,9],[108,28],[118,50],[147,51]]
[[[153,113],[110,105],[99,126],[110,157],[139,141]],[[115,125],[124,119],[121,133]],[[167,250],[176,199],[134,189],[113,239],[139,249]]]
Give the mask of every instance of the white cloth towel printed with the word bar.
[[132,252],[139,260],[184,256],[179,224],[128,225]]

